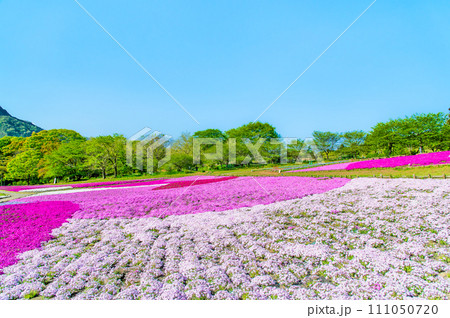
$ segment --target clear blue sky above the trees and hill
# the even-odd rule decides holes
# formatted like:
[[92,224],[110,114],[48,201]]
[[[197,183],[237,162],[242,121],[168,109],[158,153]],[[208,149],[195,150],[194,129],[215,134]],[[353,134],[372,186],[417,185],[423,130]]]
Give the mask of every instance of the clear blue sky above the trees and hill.
[[[373,0],[0,0],[0,105],[85,136],[253,121]],[[450,106],[450,5],[378,0],[262,117],[284,137]]]

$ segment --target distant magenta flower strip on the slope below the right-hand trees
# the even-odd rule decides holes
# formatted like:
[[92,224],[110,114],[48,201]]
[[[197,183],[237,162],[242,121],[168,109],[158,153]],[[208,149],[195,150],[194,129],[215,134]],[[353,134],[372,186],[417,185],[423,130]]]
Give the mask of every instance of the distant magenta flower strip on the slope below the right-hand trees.
[[395,168],[401,166],[429,166],[437,164],[450,164],[450,151],[419,154],[415,156],[401,156],[385,159],[364,160],[358,162],[339,163],[335,165],[320,166],[309,169],[293,170],[299,171],[333,171],[333,170],[355,170],[373,168]]

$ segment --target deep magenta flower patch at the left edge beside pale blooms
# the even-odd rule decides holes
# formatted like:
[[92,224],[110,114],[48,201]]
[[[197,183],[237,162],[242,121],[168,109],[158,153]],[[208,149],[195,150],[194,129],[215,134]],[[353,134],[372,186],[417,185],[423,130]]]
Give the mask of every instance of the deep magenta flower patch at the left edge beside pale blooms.
[[19,253],[40,247],[51,238],[78,204],[67,201],[35,202],[0,206],[0,273],[16,262]]

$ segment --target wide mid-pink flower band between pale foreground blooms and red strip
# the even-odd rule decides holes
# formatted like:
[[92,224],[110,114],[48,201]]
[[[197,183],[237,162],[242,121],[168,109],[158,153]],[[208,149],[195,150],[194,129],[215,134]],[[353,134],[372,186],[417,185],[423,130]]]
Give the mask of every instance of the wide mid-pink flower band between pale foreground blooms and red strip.
[[[52,195],[52,200],[80,205],[74,218],[146,218],[224,211],[259,204],[301,198],[345,185],[348,179],[303,177],[240,177],[220,182],[155,191],[154,188],[126,188]],[[194,179],[195,180],[195,179]],[[29,197],[27,202],[46,200]]]

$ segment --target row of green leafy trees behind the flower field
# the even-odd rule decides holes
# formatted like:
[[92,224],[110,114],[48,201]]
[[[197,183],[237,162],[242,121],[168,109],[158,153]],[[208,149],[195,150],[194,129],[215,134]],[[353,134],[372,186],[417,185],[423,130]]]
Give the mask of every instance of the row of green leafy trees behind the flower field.
[[[158,138],[161,137],[155,140]],[[221,142],[220,145],[217,142],[202,143],[200,159],[196,161],[194,141],[201,138]],[[443,151],[450,149],[450,119],[443,113],[415,114],[378,123],[369,132],[314,131],[312,139],[326,160]],[[132,144],[135,150],[132,162],[127,162],[127,139],[119,134],[85,138],[73,130],[53,129],[33,133],[30,137],[3,137],[0,138],[0,180],[8,184],[31,184],[55,178],[78,181],[150,173],[146,165],[136,169],[138,142]],[[149,146],[138,154],[144,162],[149,159]],[[168,148],[170,160],[160,166]],[[309,160],[314,160],[314,151],[305,140],[283,139],[268,123],[249,123],[225,132],[207,129],[194,134],[183,133],[175,140],[162,142],[152,150],[154,169],[151,172],[207,171],[255,163],[275,165],[283,161],[283,153],[287,162],[298,163],[298,154],[305,148],[311,155]],[[213,158],[212,154],[218,151],[222,156]]]

